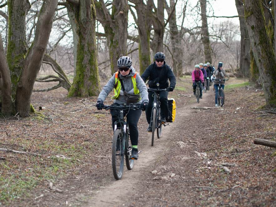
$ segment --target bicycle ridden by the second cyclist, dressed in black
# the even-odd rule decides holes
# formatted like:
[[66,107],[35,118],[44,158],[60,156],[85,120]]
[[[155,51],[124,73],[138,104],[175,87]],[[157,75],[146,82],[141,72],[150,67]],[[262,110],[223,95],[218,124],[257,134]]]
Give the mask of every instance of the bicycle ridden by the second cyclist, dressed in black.
[[151,110],[151,146],[153,146],[153,142],[154,142],[154,133],[155,133],[155,129],[157,131],[157,138],[159,139],[161,137],[161,133],[162,133],[162,125],[164,125],[164,127],[166,127],[168,124],[164,124],[163,122],[161,123],[161,113],[160,113],[160,96],[159,93],[157,93],[158,91],[168,91],[168,89],[159,89],[159,83],[156,84],[157,85],[157,89],[153,89],[153,88],[148,88],[148,91],[151,91],[154,93],[154,101],[153,101],[153,107]]

